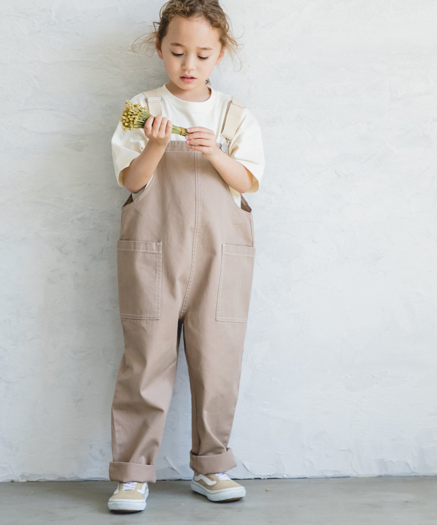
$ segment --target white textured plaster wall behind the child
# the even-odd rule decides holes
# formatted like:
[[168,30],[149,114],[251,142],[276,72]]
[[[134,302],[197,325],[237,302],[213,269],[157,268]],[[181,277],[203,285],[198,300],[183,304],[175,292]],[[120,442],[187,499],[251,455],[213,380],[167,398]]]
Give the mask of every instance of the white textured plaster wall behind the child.
[[[162,3],[3,3],[0,480],[108,479],[122,356],[110,139],[167,80],[132,41]],[[437,473],[431,0],[223,2],[263,129],[236,477]],[[238,63],[237,63],[238,66]],[[156,461],[189,478],[181,353]]]

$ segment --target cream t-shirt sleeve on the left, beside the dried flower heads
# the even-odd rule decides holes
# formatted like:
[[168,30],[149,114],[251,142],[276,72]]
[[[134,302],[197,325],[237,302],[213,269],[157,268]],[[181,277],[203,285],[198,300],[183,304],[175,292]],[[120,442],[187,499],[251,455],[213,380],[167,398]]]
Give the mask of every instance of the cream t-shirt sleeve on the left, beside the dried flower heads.
[[[144,97],[143,97],[144,98]],[[144,106],[142,93],[133,97],[131,102],[136,104],[140,102]],[[120,114],[123,108],[120,108]],[[148,139],[144,133],[144,128],[134,128],[133,130],[123,130],[123,123],[119,120],[115,132],[111,139],[112,160],[114,163],[115,177],[120,186],[123,181],[120,180],[120,172],[144,150]]]

